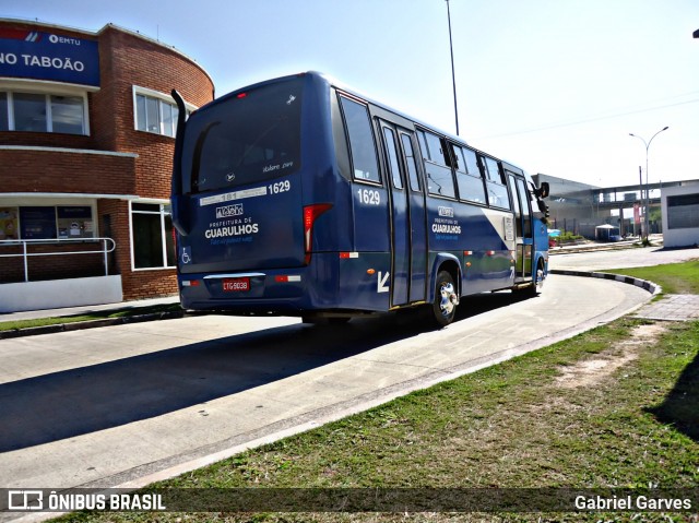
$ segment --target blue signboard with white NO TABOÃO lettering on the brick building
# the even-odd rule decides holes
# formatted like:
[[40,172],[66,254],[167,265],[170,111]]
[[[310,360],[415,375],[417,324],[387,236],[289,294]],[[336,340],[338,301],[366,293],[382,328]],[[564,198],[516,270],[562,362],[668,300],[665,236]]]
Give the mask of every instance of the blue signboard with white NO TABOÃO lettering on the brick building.
[[0,76],[99,86],[97,41],[0,28]]

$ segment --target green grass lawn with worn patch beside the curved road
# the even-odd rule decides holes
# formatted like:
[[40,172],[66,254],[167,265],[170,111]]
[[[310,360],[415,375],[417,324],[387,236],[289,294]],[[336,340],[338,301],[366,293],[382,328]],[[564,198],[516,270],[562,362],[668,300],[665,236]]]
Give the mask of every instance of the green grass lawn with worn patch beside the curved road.
[[[635,271],[653,281],[678,274],[674,288],[697,288],[690,268],[668,268]],[[696,489],[697,340],[699,322],[623,318],[154,487]],[[695,509],[695,519],[660,512],[115,512],[61,521],[696,522]]]

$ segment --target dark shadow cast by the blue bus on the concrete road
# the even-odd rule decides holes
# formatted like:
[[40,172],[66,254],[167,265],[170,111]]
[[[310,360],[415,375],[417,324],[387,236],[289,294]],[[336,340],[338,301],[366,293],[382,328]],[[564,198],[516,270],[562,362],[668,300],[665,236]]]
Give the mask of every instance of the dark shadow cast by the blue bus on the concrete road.
[[[465,298],[458,321],[520,299],[510,293]],[[429,329],[402,314],[356,319],[340,326],[294,324],[4,383],[0,385],[0,452],[203,404]],[[108,330],[104,332],[108,335]]]

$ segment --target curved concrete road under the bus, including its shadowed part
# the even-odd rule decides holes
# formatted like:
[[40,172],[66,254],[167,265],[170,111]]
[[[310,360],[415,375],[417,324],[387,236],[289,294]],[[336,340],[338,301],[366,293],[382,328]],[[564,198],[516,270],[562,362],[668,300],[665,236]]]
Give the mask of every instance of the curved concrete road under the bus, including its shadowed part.
[[[604,296],[604,300],[600,300]],[[0,341],[0,487],[138,486],[523,354],[628,312],[632,285],[552,276],[429,331],[193,317]]]

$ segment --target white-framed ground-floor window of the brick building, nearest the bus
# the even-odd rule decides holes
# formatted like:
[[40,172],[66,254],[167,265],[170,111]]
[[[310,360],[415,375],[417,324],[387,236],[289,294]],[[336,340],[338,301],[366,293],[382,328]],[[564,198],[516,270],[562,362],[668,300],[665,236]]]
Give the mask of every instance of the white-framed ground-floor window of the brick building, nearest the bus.
[[175,266],[175,241],[170,206],[131,203],[133,269]]

